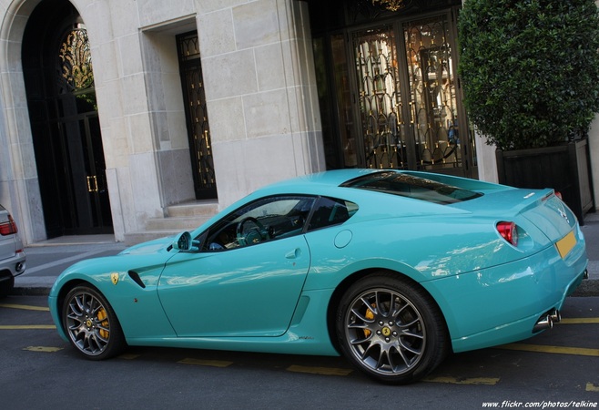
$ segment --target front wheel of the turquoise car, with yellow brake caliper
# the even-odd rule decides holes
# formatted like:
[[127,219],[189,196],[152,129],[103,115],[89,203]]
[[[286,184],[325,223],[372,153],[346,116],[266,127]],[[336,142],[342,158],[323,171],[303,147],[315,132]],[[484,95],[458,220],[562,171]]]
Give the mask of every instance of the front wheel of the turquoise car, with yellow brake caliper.
[[77,286],[66,295],[62,323],[68,340],[87,359],[103,360],[127,347],[117,315],[106,298],[90,286]]

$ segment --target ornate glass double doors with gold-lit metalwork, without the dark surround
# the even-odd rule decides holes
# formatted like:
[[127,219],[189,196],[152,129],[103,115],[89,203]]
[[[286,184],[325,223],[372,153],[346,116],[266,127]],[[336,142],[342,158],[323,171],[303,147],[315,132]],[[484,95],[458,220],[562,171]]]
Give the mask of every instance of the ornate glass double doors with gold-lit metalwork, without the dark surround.
[[351,34],[360,166],[472,176],[450,15]]

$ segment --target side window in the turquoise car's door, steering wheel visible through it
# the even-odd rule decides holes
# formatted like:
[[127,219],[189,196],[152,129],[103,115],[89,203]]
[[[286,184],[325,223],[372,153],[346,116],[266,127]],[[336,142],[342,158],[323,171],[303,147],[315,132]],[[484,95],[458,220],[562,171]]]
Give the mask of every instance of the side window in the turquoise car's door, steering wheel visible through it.
[[226,251],[299,235],[315,200],[281,196],[254,201],[212,225],[202,251]]

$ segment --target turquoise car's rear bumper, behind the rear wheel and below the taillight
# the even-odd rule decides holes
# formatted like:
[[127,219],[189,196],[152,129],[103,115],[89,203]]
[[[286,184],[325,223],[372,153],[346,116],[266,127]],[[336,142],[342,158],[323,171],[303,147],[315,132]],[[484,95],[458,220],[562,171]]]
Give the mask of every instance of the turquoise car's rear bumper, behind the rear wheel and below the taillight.
[[422,283],[445,315],[453,351],[526,339],[543,314],[561,310],[586,275],[584,237],[575,233],[576,246],[564,258],[551,246],[523,260]]

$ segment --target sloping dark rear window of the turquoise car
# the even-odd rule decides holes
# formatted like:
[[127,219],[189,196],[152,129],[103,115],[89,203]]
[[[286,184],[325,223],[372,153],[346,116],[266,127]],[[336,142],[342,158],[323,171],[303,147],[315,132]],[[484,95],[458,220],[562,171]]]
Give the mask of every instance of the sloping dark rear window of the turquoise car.
[[472,190],[464,190],[431,179],[391,171],[377,172],[350,179],[343,183],[341,187],[374,190],[442,205],[472,200],[482,196],[481,193]]

